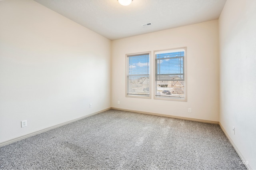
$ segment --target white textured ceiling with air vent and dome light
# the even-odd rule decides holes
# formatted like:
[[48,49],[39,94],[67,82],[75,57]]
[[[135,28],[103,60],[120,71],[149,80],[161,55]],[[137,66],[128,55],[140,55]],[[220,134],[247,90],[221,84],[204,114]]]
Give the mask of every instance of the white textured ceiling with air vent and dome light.
[[[110,39],[216,20],[226,0],[35,0]],[[142,24],[151,22],[151,26]]]

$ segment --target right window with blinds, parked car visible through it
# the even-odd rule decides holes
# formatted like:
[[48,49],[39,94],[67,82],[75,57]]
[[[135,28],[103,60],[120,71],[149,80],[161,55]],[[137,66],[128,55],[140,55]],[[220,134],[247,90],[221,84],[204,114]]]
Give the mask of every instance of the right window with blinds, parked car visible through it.
[[186,101],[186,47],[155,52],[155,98]]

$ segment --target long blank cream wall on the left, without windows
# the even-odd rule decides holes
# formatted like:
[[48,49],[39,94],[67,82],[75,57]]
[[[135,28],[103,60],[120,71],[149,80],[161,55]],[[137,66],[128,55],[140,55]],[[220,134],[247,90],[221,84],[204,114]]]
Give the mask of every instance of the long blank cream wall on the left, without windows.
[[0,1],[0,143],[109,108],[110,45],[37,2]]

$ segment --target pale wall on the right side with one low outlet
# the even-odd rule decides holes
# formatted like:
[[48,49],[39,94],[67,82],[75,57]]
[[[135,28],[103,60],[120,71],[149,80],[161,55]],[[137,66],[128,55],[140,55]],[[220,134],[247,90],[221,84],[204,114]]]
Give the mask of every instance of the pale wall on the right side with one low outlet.
[[220,123],[256,169],[256,1],[227,0],[219,26]]

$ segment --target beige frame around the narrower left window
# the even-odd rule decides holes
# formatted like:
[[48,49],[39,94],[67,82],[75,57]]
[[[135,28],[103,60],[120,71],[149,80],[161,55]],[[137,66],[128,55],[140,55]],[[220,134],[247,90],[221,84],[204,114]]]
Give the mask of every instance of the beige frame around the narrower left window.
[[[141,54],[146,54],[148,53],[149,55],[149,95],[128,95],[128,57],[131,55],[141,55]],[[126,82],[125,82],[125,86],[126,86],[126,91],[125,91],[125,96],[126,97],[135,97],[135,98],[144,98],[144,99],[151,99],[151,51],[146,51],[146,52],[139,52],[139,53],[129,53],[125,55],[125,61],[126,61]]]

